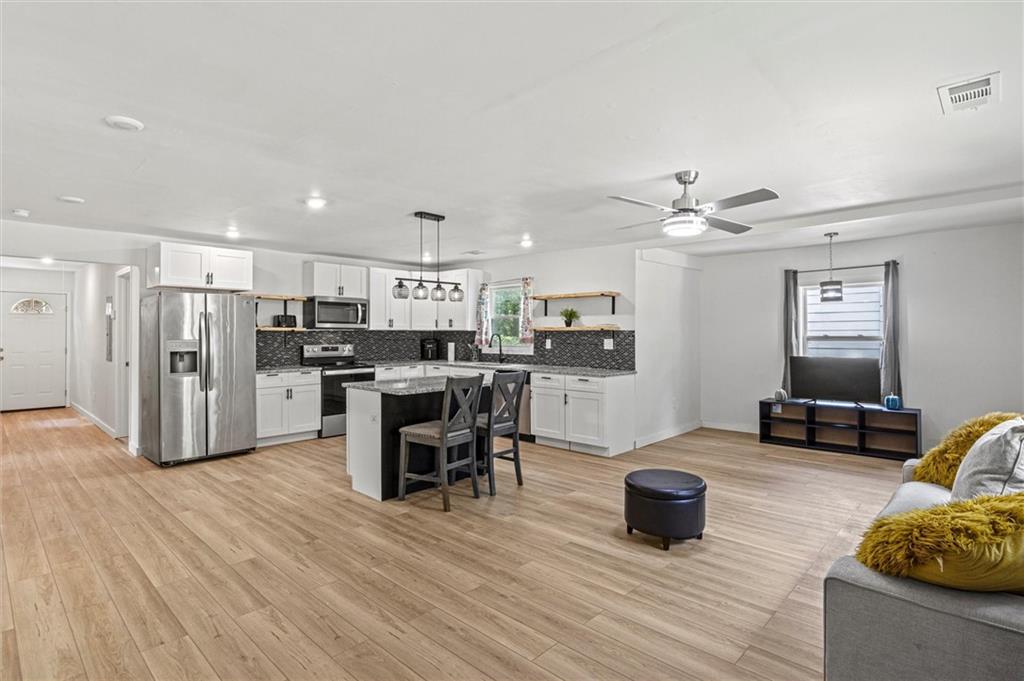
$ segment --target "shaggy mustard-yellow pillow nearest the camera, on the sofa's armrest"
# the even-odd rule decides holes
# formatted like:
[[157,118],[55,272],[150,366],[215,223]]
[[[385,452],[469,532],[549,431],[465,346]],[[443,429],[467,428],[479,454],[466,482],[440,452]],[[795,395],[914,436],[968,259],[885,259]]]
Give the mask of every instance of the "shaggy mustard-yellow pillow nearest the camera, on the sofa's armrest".
[[953,589],[1024,593],[1024,493],[879,518],[864,533],[857,560]]

